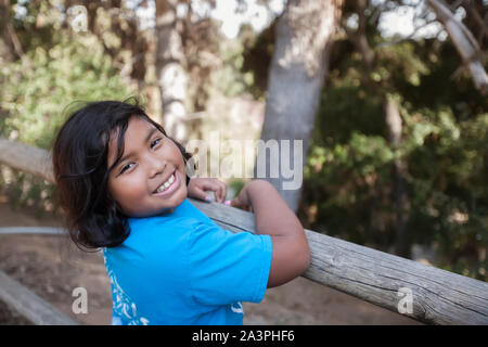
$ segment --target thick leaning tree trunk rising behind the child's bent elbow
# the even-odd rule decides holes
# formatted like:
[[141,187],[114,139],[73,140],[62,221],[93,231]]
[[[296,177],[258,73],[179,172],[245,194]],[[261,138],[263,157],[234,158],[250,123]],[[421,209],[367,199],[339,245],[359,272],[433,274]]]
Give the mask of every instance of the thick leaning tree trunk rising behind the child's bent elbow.
[[[255,177],[270,181],[294,211],[342,2],[291,0],[277,23],[261,140],[277,140],[279,145],[269,158],[258,149],[256,167],[266,158],[270,174],[277,169],[279,175],[260,177],[255,168]],[[284,170],[294,171],[292,180]]]

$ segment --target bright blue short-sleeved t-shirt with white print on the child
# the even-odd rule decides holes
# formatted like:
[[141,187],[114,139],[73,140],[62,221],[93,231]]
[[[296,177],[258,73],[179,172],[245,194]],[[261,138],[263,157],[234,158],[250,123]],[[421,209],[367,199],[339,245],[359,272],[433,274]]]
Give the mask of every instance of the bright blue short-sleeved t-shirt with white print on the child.
[[128,222],[124,243],[103,249],[113,324],[239,325],[240,301],[265,296],[269,235],[223,230],[188,200],[171,214]]

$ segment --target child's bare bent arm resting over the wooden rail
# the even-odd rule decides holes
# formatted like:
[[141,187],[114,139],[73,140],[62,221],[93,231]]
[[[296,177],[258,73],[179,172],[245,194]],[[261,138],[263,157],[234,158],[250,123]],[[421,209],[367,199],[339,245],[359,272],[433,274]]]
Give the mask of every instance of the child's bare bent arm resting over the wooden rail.
[[251,205],[255,214],[256,232],[271,236],[268,287],[284,284],[308,268],[310,249],[304,228],[271,183],[265,180],[247,183],[231,205]]

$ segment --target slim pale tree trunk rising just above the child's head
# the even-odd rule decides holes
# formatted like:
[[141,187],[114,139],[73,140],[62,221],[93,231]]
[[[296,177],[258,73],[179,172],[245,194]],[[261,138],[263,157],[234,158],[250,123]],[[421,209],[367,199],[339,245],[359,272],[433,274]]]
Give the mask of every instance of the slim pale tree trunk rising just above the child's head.
[[177,0],[156,0],[156,74],[162,95],[163,126],[167,133],[184,145],[188,127],[185,59],[176,27]]

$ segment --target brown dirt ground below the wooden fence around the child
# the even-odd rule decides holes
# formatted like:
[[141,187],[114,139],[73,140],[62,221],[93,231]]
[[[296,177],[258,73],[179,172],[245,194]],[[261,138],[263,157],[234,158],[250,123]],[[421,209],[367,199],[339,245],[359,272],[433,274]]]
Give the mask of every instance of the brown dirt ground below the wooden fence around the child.
[[[61,227],[0,204],[0,227]],[[110,281],[100,253],[87,254],[66,237],[0,235],[0,269],[81,324],[110,324]],[[76,287],[88,293],[88,313],[75,314]],[[419,324],[399,313],[298,278],[268,290],[259,304],[244,303],[244,324]],[[0,303],[0,324],[28,324]]]

